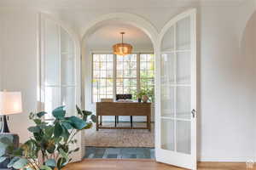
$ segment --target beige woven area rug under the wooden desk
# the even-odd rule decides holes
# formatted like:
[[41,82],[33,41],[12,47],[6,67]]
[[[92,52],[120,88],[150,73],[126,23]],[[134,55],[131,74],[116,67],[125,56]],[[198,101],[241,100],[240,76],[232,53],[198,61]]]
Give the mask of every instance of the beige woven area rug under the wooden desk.
[[[134,127],[145,127],[146,123],[135,122]],[[103,126],[113,126],[113,122],[103,122]],[[118,126],[129,127],[130,123],[120,122]],[[154,147],[154,123],[148,129],[100,129],[96,126],[85,131],[85,146],[94,147]]]

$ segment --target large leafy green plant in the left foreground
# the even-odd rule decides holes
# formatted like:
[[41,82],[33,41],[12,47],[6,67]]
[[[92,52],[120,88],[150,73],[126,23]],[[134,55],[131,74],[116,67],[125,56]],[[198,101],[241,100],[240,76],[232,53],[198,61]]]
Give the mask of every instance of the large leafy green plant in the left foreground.
[[[11,158],[8,167],[25,170],[52,170],[62,169],[68,162],[73,152],[79,148],[71,149],[77,142],[75,135],[81,130],[88,129],[96,122],[96,116],[90,111],[81,111],[77,106],[78,116],[66,116],[64,106],[52,111],[54,122],[44,122],[46,112],[31,113],[29,118],[35,126],[29,127],[32,137],[15,148],[8,137],[0,139],[0,162]],[[43,163],[39,163],[42,157]]]

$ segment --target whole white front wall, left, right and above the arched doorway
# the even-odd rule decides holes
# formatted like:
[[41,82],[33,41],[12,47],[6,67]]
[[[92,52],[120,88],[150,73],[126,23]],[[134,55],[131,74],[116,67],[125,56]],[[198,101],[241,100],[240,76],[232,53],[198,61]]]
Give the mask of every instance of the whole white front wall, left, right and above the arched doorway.
[[[110,12],[139,14],[160,31],[185,8],[103,8],[61,12],[62,20],[83,30],[90,20]],[[255,100],[253,55],[241,53],[238,6],[199,8],[199,158],[202,161],[254,159]],[[36,22],[34,11],[5,11],[3,88],[22,90],[24,112],[34,111],[36,99]],[[1,18],[2,18],[1,17]],[[247,20],[246,18],[242,20]],[[2,39],[2,38],[1,38]],[[255,73],[255,72],[254,72]],[[254,95],[255,96],[255,95]],[[26,139],[26,115],[12,116],[11,129]]]

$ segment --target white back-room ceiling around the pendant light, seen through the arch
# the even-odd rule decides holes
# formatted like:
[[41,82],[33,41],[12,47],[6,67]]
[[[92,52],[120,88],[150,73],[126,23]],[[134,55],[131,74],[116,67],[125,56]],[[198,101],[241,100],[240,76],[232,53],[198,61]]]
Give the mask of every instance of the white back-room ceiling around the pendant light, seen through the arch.
[[90,50],[111,51],[113,44],[121,42],[120,31],[125,31],[124,42],[130,43],[134,50],[153,51],[153,44],[143,31],[120,21],[109,21],[96,30],[88,38],[87,45]]

